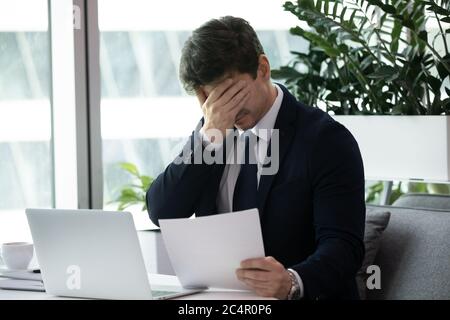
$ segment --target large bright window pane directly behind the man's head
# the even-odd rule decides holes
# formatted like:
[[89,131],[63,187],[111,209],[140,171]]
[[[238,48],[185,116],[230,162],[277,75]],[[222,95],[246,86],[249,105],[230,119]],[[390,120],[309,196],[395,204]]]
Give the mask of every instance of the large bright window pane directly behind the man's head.
[[[283,2],[132,0],[124,6],[122,1],[99,0],[106,208],[116,208],[110,201],[129,183],[119,162],[132,162],[156,177],[202,115],[196,98],[187,96],[178,80],[181,49],[191,31],[212,18],[242,17],[257,31],[275,68],[289,61],[289,50],[307,49],[289,35],[296,20],[283,12]],[[138,228],[151,226],[140,209],[132,209]]]

